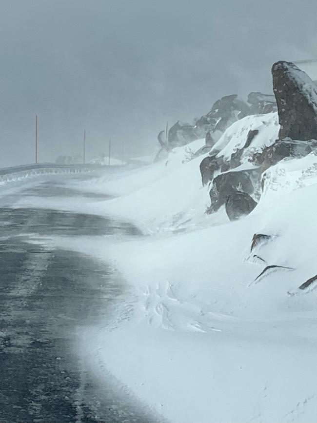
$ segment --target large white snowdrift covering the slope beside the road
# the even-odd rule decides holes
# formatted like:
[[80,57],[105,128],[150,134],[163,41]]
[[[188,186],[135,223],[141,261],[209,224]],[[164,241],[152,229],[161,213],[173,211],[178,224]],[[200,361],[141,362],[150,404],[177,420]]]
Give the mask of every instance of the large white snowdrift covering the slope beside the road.
[[[267,119],[274,137],[276,116]],[[242,144],[232,140],[221,149]],[[258,206],[229,222],[223,207],[205,214],[202,156],[189,160],[203,144],[78,186],[115,199],[45,203],[122,217],[146,234],[50,241],[110,260],[134,287],[125,319],[87,330],[92,367],[99,377],[107,368],[173,423],[315,422],[317,291],[298,287],[317,274],[317,157],[269,169]],[[271,239],[251,253],[255,233]],[[270,265],[283,267],[258,277]]]

